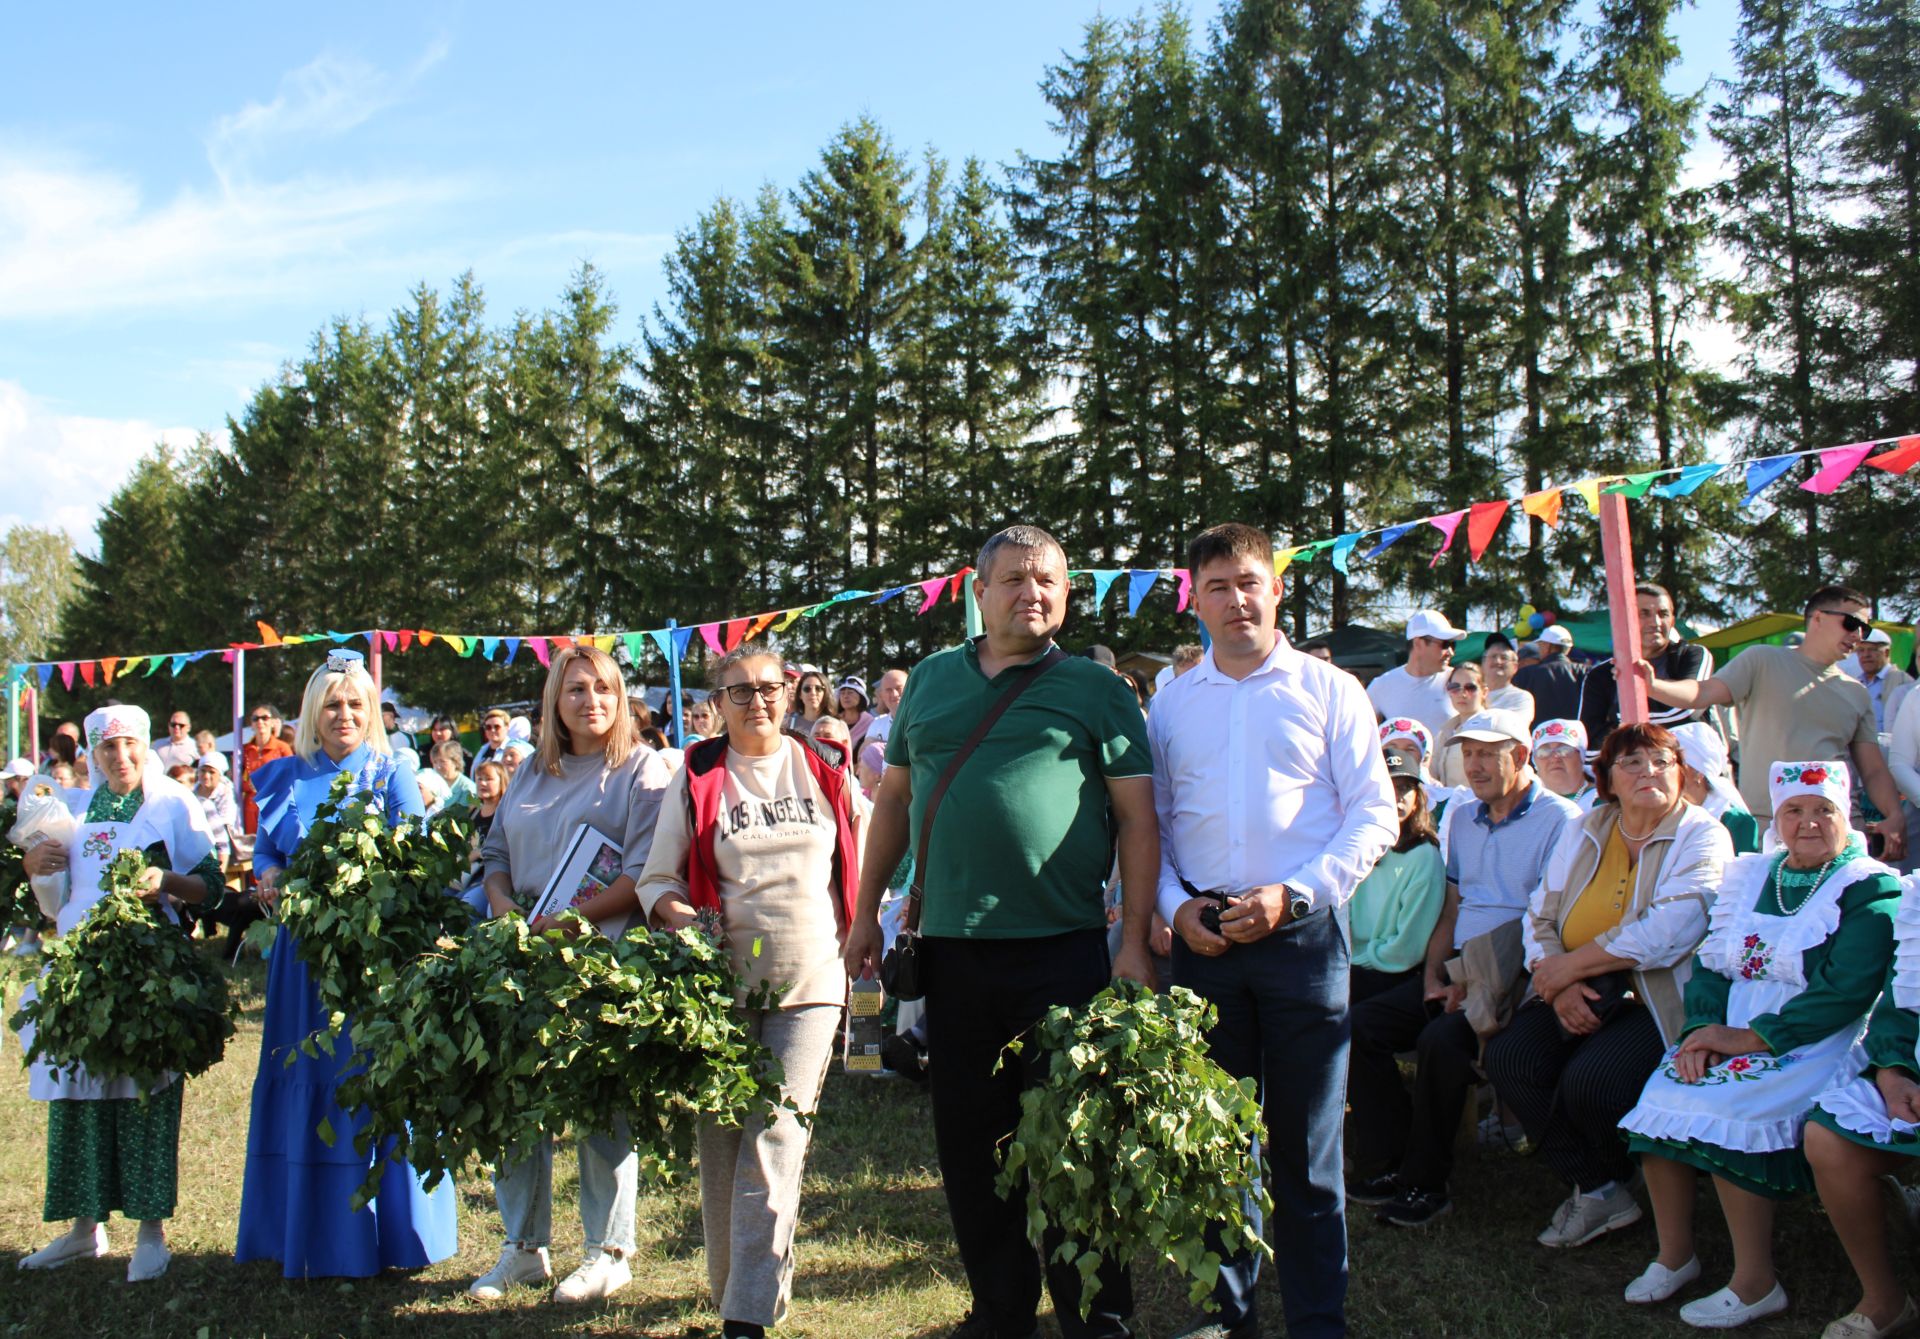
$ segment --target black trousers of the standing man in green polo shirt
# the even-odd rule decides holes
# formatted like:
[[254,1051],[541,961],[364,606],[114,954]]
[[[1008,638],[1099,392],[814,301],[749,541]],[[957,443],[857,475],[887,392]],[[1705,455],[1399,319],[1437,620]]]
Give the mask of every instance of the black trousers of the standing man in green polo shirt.
[[[1027,1241],[1027,1197],[1000,1199],[996,1149],[1020,1124],[1020,1093],[1039,1078],[1029,1047],[995,1074],[1006,1043],[1054,1005],[1085,1005],[1108,982],[1106,930],[1043,939],[920,941],[927,991],[933,1139],[947,1187],[947,1212],[966,1266],[973,1310],[1002,1335],[1027,1335],[1041,1304],[1041,1254]],[[1046,1237],[1046,1291],[1066,1339],[1123,1339],[1133,1312],[1125,1260],[1102,1266],[1092,1312],[1081,1320],[1079,1270],[1052,1262],[1060,1233]]]

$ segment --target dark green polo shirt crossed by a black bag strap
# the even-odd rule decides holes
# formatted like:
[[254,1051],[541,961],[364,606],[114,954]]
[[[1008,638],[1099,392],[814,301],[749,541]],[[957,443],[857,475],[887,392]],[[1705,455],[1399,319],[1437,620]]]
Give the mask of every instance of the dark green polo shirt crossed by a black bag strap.
[[[912,768],[908,851],[948,759],[1020,669],[989,680],[973,642],[914,667],[887,736],[887,767]],[[920,932],[1035,939],[1104,926],[1106,778],[1152,770],[1146,718],[1127,682],[1081,657],[1054,665],[947,788],[927,843]]]

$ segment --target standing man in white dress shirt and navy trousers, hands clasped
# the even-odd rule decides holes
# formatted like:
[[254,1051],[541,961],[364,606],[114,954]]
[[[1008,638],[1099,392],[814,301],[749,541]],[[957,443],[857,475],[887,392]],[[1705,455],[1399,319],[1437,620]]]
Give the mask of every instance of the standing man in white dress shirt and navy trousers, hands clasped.
[[[1260,1080],[1286,1333],[1342,1335],[1344,905],[1398,836],[1394,784],[1359,680],[1275,626],[1267,536],[1213,526],[1188,569],[1213,645],[1146,722],[1173,982],[1219,1010],[1213,1059]],[[1258,1335],[1256,1276],[1258,1256],[1229,1258],[1217,1322],[1192,1333]]]

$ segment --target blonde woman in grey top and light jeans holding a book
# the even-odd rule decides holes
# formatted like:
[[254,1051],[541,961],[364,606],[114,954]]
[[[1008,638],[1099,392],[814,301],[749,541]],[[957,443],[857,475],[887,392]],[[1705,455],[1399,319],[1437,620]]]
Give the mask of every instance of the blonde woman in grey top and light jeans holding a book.
[[[620,876],[576,911],[595,924],[624,920],[639,907],[634,884],[653,847],[668,768],[660,755],[636,740],[626,682],[614,659],[591,645],[570,645],[553,657],[540,699],[540,749],[526,761],[493,811],[480,868],[495,916],[532,905],[566,859],[582,824],[620,845]],[[580,922],[551,916],[534,930],[578,932]],[[557,1302],[611,1297],[632,1281],[626,1256],[634,1251],[634,1201],[639,1158],[614,1116],[614,1135],[580,1139],[580,1226],[586,1260],[553,1291]],[[507,1243],[499,1262],[474,1279],[468,1293],[501,1297],[518,1283],[553,1278],[547,1245],[553,1235],[553,1141],[516,1149],[493,1176]]]

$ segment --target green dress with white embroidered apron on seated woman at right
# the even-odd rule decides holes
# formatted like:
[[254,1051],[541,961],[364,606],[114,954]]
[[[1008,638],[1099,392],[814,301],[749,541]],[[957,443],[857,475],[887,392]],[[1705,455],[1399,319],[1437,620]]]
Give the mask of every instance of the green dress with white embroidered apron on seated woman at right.
[[1751,1028],[1766,1051],[1734,1055],[1697,1083],[1674,1051],[1622,1120],[1634,1155],[1657,1155],[1784,1199],[1812,1189],[1801,1130],[1814,1101],[1859,1072],[1866,1010],[1893,955],[1899,876],[1859,838],[1822,870],[1786,855],[1726,866],[1686,987],[1686,1026]]

